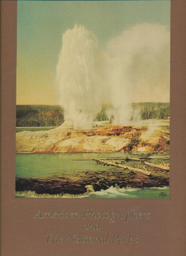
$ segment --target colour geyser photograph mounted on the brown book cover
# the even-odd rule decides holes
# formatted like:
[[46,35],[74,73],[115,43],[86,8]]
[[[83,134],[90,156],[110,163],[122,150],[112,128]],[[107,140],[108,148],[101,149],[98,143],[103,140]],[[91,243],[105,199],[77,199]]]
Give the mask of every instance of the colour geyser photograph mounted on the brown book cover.
[[170,7],[17,1],[17,198],[169,198]]

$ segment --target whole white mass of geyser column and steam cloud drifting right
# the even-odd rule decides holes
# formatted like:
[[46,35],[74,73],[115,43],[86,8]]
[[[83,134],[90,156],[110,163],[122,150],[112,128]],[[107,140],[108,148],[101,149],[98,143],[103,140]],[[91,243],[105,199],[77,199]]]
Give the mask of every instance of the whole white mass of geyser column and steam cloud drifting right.
[[93,33],[75,25],[63,34],[57,65],[65,120],[89,129],[107,102],[115,123],[129,124],[131,102],[169,101],[169,69],[170,32],[164,25],[136,25],[104,51]]

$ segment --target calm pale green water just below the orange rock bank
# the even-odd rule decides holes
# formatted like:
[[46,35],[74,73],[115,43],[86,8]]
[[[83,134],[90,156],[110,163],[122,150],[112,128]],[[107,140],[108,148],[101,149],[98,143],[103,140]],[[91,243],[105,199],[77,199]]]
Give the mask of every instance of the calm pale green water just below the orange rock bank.
[[[97,165],[94,161],[75,161],[74,159],[123,157],[127,153],[78,153],[78,154],[17,154],[16,177],[40,177],[51,174],[78,174],[83,171],[113,169],[114,167]],[[128,154],[132,156],[132,154]],[[115,169],[115,168],[114,168]]]

